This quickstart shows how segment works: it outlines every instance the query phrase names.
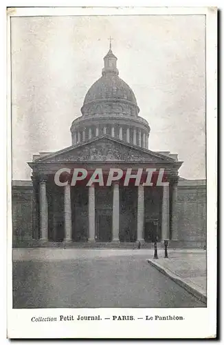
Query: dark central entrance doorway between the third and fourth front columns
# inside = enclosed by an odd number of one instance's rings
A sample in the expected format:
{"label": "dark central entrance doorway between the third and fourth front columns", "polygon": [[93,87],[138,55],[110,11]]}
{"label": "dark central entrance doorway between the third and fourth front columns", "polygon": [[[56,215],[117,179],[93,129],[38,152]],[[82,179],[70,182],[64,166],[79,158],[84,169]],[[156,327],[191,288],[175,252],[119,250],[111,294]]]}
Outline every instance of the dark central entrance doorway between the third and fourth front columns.
{"label": "dark central entrance doorway between the third and fourth front columns", "polygon": [[112,241],[112,216],[98,215],[96,225],[96,240],[98,242]]}

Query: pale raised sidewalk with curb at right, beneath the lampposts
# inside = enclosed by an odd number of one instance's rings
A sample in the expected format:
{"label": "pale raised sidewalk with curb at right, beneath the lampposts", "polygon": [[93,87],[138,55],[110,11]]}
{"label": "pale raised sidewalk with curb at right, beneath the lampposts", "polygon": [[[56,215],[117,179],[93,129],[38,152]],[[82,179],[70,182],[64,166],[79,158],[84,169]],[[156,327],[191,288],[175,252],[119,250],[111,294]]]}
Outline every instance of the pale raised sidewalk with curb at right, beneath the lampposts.
{"label": "pale raised sidewalk with curb at right, beneath the lampposts", "polygon": [[159,252],[159,258],[150,257],[148,263],[206,303],[206,251],[200,249],[188,252],[186,250],[168,250],[166,259],[164,251],[159,250]]}

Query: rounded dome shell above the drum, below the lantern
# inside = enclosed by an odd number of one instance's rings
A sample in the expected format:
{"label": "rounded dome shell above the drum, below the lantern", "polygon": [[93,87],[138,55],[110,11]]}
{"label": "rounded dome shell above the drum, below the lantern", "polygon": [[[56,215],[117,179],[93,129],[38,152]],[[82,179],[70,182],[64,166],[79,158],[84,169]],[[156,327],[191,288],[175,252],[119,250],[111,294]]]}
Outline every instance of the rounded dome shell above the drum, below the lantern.
{"label": "rounded dome shell above the drum, below the lantern", "polygon": [[117,99],[130,101],[137,106],[137,101],[133,90],[117,75],[106,73],[98,79],[84,99],[84,105],[96,100]]}

